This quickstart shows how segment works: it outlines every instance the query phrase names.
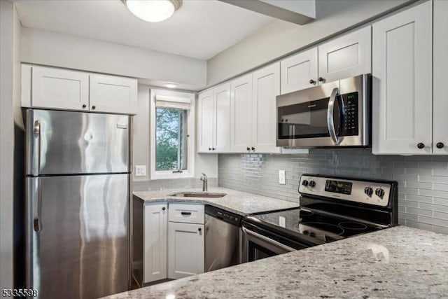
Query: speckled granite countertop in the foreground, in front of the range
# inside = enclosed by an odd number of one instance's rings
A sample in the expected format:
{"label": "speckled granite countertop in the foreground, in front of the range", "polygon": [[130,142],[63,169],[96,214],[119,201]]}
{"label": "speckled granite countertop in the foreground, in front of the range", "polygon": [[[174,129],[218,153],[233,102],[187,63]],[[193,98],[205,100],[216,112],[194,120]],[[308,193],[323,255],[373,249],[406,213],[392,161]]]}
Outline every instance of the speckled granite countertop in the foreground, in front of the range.
{"label": "speckled granite countertop in the foreground, in front of the range", "polygon": [[448,235],[397,226],[118,298],[448,298]]}

